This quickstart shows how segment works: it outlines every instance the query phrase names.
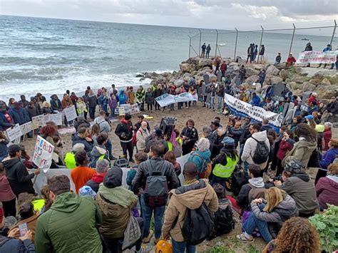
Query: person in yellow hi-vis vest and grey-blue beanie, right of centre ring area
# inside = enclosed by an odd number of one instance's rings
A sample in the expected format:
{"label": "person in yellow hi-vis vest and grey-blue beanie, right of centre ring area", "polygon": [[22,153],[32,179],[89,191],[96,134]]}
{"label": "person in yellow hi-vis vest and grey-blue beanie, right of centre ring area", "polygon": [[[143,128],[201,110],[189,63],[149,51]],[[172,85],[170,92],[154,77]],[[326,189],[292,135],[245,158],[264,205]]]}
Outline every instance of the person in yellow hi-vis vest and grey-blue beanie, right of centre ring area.
{"label": "person in yellow hi-vis vest and grey-blue beanie, right of centre ring area", "polygon": [[212,165],[215,167],[212,170],[212,181],[214,185],[216,182],[225,187],[225,180],[231,177],[232,172],[238,162],[237,150],[235,150],[235,140],[225,136],[222,140],[223,148],[220,153],[212,159]]}

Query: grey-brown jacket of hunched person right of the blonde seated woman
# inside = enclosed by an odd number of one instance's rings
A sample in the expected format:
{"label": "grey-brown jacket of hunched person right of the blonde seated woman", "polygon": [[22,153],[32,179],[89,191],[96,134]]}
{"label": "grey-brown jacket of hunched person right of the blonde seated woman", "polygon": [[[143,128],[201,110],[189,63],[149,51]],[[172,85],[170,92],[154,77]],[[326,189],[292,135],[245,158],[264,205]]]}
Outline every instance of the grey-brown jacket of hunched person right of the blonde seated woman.
{"label": "grey-brown jacket of hunched person right of the blonde seated woman", "polygon": [[280,186],[296,202],[299,213],[312,214],[318,208],[316,189],[306,172],[293,173]]}

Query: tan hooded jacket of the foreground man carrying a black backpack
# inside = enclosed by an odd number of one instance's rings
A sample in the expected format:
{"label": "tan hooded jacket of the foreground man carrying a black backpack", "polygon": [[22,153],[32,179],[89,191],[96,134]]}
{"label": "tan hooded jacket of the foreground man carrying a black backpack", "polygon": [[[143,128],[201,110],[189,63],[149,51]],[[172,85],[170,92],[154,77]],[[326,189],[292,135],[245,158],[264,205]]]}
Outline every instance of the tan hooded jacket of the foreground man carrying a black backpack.
{"label": "tan hooded jacket of the foreground man carrying a black backpack", "polygon": [[170,200],[167,210],[165,210],[162,233],[164,237],[170,234],[176,242],[184,242],[181,227],[183,227],[187,208],[195,210],[205,202],[210,212],[216,212],[218,209],[216,192],[207,180],[183,185],[171,190],[169,195]]}

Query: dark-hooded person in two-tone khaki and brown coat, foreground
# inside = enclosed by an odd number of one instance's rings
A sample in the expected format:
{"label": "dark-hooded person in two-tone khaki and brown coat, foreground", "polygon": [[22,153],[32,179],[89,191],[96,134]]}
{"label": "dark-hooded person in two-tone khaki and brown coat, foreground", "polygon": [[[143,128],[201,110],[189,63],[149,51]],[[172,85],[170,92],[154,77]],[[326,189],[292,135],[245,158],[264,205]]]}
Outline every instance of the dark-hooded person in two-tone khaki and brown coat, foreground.
{"label": "dark-hooded person in two-tone khaki and brown coat, foreground", "polygon": [[[130,210],[138,202],[138,197],[122,186],[122,175],[120,167],[114,166],[108,170],[96,195],[96,202],[103,216],[99,231],[108,252],[121,252],[120,241],[123,241],[130,219]],[[143,219],[136,219],[142,231]],[[136,251],[140,250],[141,243],[142,237],[136,242]]]}

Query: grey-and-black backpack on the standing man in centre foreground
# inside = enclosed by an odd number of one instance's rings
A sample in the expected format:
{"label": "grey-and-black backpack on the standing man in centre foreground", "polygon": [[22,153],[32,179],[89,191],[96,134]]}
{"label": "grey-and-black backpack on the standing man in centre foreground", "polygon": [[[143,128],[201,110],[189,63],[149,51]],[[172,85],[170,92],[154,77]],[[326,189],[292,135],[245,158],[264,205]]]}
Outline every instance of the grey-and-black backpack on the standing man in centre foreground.
{"label": "grey-and-black backpack on the standing man in centre foreground", "polygon": [[149,207],[162,207],[167,203],[168,197],[168,182],[167,177],[163,175],[163,165],[165,160],[162,161],[160,170],[153,170],[153,165],[151,160],[148,160],[150,163],[149,175],[145,182],[145,204]]}

